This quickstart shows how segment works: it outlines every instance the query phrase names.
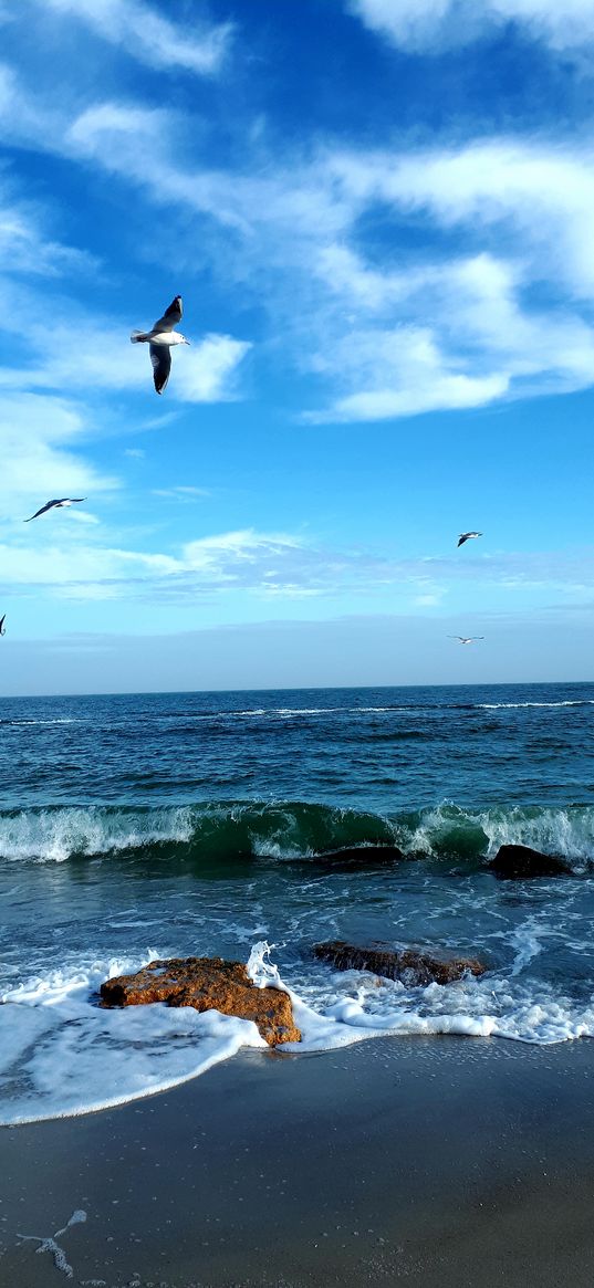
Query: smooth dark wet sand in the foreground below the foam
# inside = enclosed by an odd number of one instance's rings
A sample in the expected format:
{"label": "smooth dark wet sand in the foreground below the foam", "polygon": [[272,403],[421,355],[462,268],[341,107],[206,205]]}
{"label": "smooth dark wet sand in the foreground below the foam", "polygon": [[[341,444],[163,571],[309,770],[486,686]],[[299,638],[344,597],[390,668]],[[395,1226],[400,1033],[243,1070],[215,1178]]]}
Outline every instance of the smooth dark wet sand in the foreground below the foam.
{"label": "smooth dark wet sand in the foreground below the foam", "polygon": [[[388,1038],[4,1128],[0,1288],[591,1288],[593,1092],[588,1039]],[[18,1235],[75,1209],[68,1278]]]}

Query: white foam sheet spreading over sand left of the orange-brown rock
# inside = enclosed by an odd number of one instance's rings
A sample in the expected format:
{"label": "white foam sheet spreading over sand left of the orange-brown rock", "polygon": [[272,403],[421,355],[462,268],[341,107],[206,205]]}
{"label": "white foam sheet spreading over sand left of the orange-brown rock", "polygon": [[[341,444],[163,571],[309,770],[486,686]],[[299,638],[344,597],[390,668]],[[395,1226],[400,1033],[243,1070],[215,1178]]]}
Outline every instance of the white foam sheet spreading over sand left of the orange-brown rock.
{"label": "white foam sheet spreading over sand left of the orange-brown rock", "polygon": [[192,1007],[102,1010],[95,989],[140,961],[95,962],[8,990],[0,1006],[0,1124],[125,1104],[195,1078],[241,1046],[265,1047],[255,1024]]}

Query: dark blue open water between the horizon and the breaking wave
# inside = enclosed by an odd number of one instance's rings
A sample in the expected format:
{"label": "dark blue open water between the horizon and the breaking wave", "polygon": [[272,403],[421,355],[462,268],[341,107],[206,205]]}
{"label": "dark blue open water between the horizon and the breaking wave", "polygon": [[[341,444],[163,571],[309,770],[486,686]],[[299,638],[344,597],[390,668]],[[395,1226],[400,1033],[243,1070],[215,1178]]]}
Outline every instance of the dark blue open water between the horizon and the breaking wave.
{"label": "dark blue open water between the horizon and the breaking wave", "polygon": [[593,723],[589,684],[12,698],[3,802],[566,804]]}

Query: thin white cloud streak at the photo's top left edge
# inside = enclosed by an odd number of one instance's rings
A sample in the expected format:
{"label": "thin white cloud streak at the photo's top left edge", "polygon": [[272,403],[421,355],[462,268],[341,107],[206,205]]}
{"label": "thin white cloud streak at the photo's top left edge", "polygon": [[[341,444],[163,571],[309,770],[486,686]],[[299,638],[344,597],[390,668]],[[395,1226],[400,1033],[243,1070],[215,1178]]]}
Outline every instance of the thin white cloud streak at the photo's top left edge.
{"label": "thin white cloud streak at the photo's top left edge", "polygon": [[[218,72],[232,36],[231,23],[192,26],[171,22],[143,0],[36,0],[44,10],[84,22],[102,40],[119,45],[149,67],[180,67],[207,76]],[[173,12],[173,8],[170,12]]]}

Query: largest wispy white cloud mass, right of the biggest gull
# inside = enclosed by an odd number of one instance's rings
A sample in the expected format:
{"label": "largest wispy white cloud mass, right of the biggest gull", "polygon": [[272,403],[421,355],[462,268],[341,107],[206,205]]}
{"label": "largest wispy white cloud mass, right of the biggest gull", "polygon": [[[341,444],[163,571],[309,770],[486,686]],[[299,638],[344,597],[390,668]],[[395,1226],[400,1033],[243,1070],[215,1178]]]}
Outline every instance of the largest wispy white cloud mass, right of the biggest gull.
{"label": "largest wispy white cloud mass, right of the biggest gull", "polygon": [[[72,126],[95,157],[101,121],[90,135],[89,120],[82,135]],[[120,174],[130,148],[126,129],[110,148]],[[311,420],[477,407],[594,379],[588,148],[496,138],[456,149],[325,149],[262,180],[191,171],[171,158],[158,179],[155,158],[135,166],[158,204],[182,202],[235,231],[227,255],[242,256],[247,289],[251,273],[264,282],[294,363],[334,385]],[[362,237],[362,220],[380,204],[394,224],[419,224],[419,247],[408,264],[401,254],[397,269],[379,268]],[[452,229],[474,254],[421,250],[426,233]],[[545,261],[555,299],[537,304],[531,289],[541,286]]]}

